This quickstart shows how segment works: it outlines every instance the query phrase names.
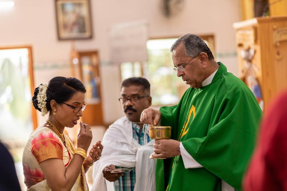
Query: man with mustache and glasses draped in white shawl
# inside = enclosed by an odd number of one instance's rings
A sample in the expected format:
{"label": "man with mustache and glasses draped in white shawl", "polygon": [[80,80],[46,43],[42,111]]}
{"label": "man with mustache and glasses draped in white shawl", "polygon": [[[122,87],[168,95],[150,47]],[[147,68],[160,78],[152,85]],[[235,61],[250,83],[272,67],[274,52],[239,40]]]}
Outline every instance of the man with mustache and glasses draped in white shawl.
{"label": "man with mustache and glasses draped in white shawl", "polygon": [[[119,98],[125,117],[109,126],[102,144],[102,157],[93,168],[92,191],[155,190],[154,140],[146,133],[148,124],[140,122],[141,113],[152,104],[150,84],[145,78],[124,80]],[[109,169],[132,167],[127,173],[112,173]]]}

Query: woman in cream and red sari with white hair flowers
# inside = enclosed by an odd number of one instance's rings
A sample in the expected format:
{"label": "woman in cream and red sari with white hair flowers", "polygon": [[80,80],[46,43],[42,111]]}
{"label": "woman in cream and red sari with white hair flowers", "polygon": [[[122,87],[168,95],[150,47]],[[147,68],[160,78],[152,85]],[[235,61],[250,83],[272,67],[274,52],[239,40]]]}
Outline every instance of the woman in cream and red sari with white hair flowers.
{"label": "woman in cream and red sari with white hair flowers", "polygon": [[100,141],[91,144],[91,128],[80,122],[77,148],[65,127],[72,128],[83,116],[86,89],[77,78],[54,77],[34,91],[32,102],[46,123],[30,135],[23,153],[25,184],[28,190],[88,190],[85,172],[103,150]]}

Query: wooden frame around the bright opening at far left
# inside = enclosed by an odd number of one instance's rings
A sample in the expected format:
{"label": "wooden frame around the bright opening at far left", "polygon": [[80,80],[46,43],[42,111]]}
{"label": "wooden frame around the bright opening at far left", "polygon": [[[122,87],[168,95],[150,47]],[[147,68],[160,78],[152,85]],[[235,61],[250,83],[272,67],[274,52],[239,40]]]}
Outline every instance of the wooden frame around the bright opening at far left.
{"label": "wooden frame around the bright opening at far left", "polygon": [[[33,73],[33,56],[32,56],[32,46],[30,45],[23,45],[23,46],[1,46],[0,50],[7,50],[7,49],[22,49],[22,48],[27,48],[28,49],[28,71],[29,71],[29,77],[30,77],[30,91],[31,91],[31,96],[33,97],[34,95],[34,73]],[[33,123],[33,130],[35,130],[38,127],[37,123],[37,113],[36,109],[33,107],[33,103],[31,101],[31,117],[32,117],[32,123]]]}

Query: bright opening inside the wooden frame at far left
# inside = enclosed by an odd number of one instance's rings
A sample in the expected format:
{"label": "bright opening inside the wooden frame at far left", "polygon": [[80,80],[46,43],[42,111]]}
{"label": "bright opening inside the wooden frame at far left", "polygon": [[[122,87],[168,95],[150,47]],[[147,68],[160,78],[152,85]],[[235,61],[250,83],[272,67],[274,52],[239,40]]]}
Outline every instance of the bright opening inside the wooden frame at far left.
{"label": "bright opening inside the wooden frame at far left", "polygon": [[7,127],[8,121],[8,126],[13,127],[13,133],[11,128],[1,128],[0,139],[4,142],[28,138],[33,130],[34,87],[30,83],[28,54],[28,48],[0,50],[0,127]]}

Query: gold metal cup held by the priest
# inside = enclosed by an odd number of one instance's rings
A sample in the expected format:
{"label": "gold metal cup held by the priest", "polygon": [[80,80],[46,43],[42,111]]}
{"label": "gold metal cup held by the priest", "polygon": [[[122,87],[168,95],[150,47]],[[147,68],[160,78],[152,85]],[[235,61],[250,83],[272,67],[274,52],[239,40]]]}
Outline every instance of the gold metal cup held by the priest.
{"label": "gold metal cup held by the priest", "polygon": [[[149,127],[148,130],[148,134],[149,137],[151,139],[170,139],[170,135],[171,135],[171,127],[169,126],[153,126],[153,127]],[[152,158],[152,155],[150,155],[149,158]],[[159,158],[159,159],[165,159],[165,158],[170,158],[170,157],[163,157],[163,158]]]}

